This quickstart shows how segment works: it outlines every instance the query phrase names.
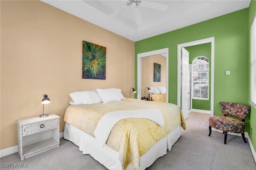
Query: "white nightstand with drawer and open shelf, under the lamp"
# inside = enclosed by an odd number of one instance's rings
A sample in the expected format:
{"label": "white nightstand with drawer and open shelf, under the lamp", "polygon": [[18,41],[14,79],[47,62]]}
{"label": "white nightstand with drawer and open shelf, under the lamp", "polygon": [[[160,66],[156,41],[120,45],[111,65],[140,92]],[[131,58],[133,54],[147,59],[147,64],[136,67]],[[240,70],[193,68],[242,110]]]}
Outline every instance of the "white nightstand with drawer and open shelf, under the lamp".
{"label": "white nightstand with drawer and open shelf, under the lamp", "polygon": [[30,117],[17,120],[18,153],[24,160],[60,146],[60,117]]}

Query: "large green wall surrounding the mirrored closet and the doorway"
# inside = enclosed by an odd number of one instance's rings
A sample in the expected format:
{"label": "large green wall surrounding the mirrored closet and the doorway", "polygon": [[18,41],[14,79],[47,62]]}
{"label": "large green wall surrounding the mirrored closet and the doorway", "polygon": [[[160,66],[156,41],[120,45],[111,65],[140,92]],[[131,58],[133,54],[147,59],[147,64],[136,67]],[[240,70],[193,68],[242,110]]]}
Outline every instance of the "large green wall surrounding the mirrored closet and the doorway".
{"label": "large green wall surrounding the mirrored closet and the doorway", "polygon": [[[250,93],[250,24],[256,1],[249,8],[212,18],[178,30],[135,42],[135,87],[137,88],[137,54],[169,48],[168,101],[177,104],[177,45],[214,37],[214,115],[222,115],[219,102],[248,104]],[[225,71],[230,71],[226,75]],[[256,148],[256,109],[246,119],[246,132],[253,128],[250,139]]]}

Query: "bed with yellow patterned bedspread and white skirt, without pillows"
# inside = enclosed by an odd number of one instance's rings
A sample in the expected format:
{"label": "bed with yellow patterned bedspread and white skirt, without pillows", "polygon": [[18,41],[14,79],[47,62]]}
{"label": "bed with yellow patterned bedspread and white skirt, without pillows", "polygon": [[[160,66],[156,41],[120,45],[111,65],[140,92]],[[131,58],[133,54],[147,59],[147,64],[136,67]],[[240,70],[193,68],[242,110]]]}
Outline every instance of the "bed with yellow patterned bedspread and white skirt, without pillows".
{"label": "bed with yellow patterned bedspread and white skirt, without pillows", "polygon": [[[178,140],[181,127],[186,128],[183,115],[177,105],[170,103],[121,98],[107,103],[70,105],[64,116],[64,138],[110,170],[145,169]],[[109,113],[124,111],[135,115],[144,111],[144,115],[117,121],[104,143],[101,137],[106,135],[96,134],[100,122]],[[157,111],[162,115],[162,125],[161,121],[144,118]]]}

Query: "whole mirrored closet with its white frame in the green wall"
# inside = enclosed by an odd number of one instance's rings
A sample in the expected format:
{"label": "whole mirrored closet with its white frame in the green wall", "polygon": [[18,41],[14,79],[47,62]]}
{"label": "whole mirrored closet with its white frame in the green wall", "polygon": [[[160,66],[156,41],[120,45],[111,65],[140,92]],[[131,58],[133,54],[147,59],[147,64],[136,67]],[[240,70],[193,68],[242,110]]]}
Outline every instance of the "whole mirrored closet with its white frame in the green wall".
{"label": "whole mirrored closet with its white frame in the green wall", "polygon": [[163,96],[161,100],[155,97],[154,101],[168,103],[168,51],[168,48],[163,48],[137,54],[137,99],[153,101],[154,93]]}

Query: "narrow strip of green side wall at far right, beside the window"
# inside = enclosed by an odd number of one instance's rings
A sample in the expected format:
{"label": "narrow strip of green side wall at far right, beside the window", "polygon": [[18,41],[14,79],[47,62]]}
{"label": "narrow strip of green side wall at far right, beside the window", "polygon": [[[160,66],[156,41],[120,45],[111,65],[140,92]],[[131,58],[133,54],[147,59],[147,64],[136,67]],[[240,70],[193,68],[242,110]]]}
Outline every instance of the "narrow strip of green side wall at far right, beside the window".
{"label": "narrow strip of green side wall at far right, beside the window", "polygon": [[[252,25],[252,19],[256,13],[256,0],[251,0],[250,2],[250,6],[249,6],[249,17],[248,17],[248,42],[249,42],[249,45],[248,45],[248,53],[250,54],[250,51],[251,51],[251,48],[250,48],[250,37],[251,37],[251,34],[250,34],[250,28],[251,28],[251,25]],[[250,55],[249,55],[249,61],[248,61],[248,72],[250,73]],[[250,77],[250,76],[249,76]],[[248,80],[248,101],[250,101],[250,79]],[[248,103],[250,105],[250,103]],[[248,134],[250,136],[250,140],[252,141],[252,144],[253,144],[253,147],[254,147],[254,150],[256,151],[256,109],[254,106],[250,105],[251,106],[251,112],[248,116],[247,119],[249,119],[249,125],[247,126],[248,127]],[[250,134],[250,130],[252,128],[252,134]]]}

